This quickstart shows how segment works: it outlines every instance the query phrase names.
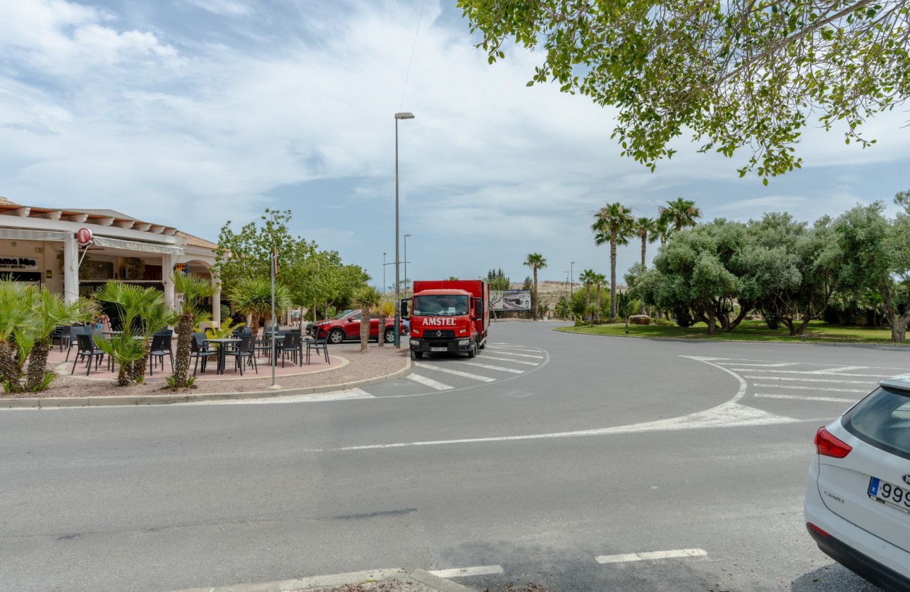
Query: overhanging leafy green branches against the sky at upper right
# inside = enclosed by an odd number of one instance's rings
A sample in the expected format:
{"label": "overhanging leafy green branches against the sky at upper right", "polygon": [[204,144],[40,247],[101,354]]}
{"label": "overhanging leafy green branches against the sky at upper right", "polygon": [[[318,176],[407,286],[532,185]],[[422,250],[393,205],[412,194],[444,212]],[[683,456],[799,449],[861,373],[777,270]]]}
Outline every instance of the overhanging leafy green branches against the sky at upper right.
{"label": "overhanging leafy green branches against the sky at upper right", "polygon": [[622,155],[650,166],[691,133],[701,152],[751,151],[740,176],[801,166],[810,117],[864,140],[865,119],[905,101],[904,2],[782,0],[654,5],[591,0],[458,0],[490,63],[514,39],[541,55],[528,85],[612,105]]}

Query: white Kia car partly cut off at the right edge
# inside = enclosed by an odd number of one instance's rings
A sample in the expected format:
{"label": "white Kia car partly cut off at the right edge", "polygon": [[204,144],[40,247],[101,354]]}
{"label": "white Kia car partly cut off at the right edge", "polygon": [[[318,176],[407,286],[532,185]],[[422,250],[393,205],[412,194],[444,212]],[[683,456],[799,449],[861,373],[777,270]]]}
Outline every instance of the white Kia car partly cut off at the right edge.
{"label": "white Kia car partly cut off at the right edge", "polygon": [[910,590],[910,376],[883,380],[815,435],[805,521],[818,547],[885,590]]}

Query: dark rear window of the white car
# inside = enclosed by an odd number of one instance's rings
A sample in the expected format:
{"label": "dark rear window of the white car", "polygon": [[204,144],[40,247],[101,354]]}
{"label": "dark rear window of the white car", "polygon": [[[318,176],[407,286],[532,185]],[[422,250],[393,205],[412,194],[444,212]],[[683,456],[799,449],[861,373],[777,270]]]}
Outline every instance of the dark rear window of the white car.
{"label": "dark rear window of the white car", "polygon": [[910,393],[875,389],[844,416],[844,427],[874,447],[910,459]]}

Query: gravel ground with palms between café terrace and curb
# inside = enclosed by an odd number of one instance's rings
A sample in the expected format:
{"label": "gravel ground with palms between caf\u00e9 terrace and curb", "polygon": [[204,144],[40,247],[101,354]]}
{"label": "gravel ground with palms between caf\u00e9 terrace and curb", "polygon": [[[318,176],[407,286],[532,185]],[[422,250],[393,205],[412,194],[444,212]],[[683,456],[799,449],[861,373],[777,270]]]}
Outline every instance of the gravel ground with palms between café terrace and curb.
{"label": "gravel ground with palms between caf\u00e9 terrace and curb", "polygon": [[[376,346],[370,344],[366,353],[360,353],[359,344],[345,344],[341,346],[331,346],[329,354],[332,358],[341,357],[347,360],[347,364],[341,364],[329,369],[317,369],[306,374],[296,376],[278,376],[276,383],[281,386],[281,390],[292,390],[296,388],[307,388],[309,386],[329,386],[329,385],[346,385],[359,380],[366,380],[378,376],[385,376],[401,370],[409,363],[408,349],[402,347],[396,349],[394,346]],[[167,385],[156,376],[154,380],[148,380],[141,385],[133,386],[116,386],[113,380],[95,380],[86,379],[85,376],[70,376],[69,369],[72,366],[61,366],[62,373],[51,383],[51,386],[41,393],[17,393],[15,397],[27,396],[145,396],[145,395],[167,395],[171,393]],[[262,369],[266,368],[267,372],[263,373]],[[308,366],[303,366],[301,370],[306,371]],[[265,374],[265,376],[263,376]],[[232,376],[232,375],[226,375]],[[203,393],[241,393],[266,391],[272,384],[271,374],[268,372],[268,366],[260,368],[259,376],[261,378],[227,378],[225,380],[197,380],[194,388],[184,389],[182,392],[189,394]],[[8,398],[11,395],[0,393],[0,398]]]}

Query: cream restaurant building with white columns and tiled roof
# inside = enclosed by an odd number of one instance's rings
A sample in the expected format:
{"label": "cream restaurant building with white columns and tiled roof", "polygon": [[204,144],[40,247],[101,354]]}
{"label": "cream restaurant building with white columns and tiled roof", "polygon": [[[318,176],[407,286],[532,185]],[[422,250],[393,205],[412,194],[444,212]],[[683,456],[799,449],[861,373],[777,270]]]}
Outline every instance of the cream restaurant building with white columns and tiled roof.
{"label": "cream restaurant building with white columns and tiled roof", "polygon": [[[83,228],[91,231],[87,247],[76,239]],[[158,287],[167,305],[177,309],[182,295],[175,292],[174,274],[212,277],[215,247],[115,210],[24,206],[0,197],[0,276],[46,286],[68,301],[117,279]],[[220,326],[221,293],[215,286],[212,324]]]}

